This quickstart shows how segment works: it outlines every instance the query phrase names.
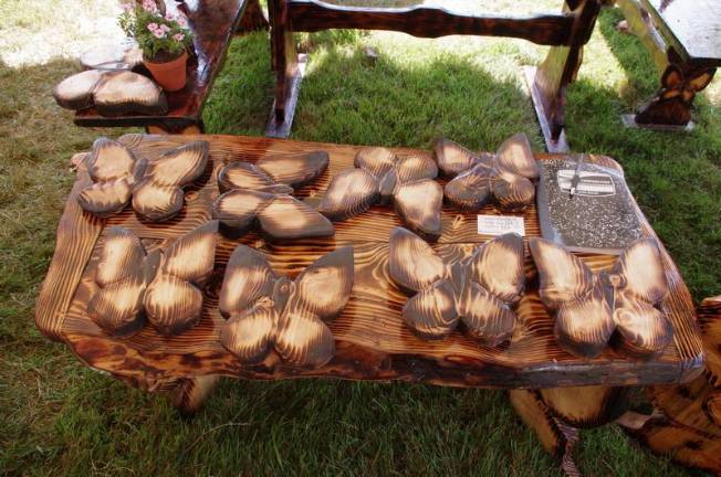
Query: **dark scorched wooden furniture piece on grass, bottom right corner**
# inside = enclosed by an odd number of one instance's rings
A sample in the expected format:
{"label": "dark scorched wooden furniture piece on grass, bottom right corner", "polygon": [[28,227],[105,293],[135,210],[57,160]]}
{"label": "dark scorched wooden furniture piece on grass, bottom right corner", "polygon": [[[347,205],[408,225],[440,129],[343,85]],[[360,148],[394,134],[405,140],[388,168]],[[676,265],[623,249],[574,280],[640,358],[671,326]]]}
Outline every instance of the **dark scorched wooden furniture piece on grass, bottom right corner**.
{"label": "dark scorched wooden furniture piece on grass, bottom right corner", "polygon": [[721,475],[721,390],[715,388],[721,382],[721,296],[704,299],[697,314],[707,374],[687,384],[647,388],[654,414],[628,412],[618,424],[655,454]]}

